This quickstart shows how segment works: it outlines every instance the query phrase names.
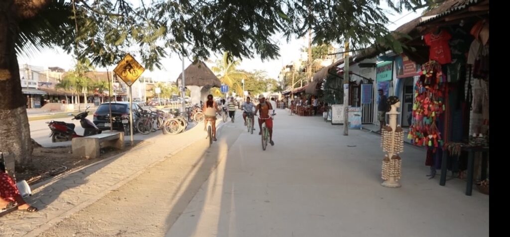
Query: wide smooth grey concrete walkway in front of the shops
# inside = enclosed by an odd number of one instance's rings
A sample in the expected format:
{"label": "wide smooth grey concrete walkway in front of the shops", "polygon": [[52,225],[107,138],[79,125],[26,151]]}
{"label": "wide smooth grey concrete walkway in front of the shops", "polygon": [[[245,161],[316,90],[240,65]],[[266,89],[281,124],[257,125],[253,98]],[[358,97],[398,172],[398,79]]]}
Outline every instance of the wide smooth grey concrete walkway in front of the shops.
{"label": "wide smooth grey concrete walkway in front of the shops", "polygon": [[489,236],[489,197],[428,180],[424,150],[405,145],[385,188],[378,135],[278,114],[275,145],[242,133],[166,236]]}

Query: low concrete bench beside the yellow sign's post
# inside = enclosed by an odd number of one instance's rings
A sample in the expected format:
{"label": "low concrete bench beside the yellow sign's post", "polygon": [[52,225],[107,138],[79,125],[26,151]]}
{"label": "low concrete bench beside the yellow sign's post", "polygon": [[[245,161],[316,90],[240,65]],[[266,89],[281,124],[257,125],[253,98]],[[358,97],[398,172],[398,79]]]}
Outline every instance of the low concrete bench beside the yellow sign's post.
{"label": "low concrete bench beside the yellow sign's post", "polygon": [[123,149],[124,133],[109,132],[88,137],[73,138],[72,156],[76,158],[88,157],[89,159],[94,159],[99,157],[99,150],[103,147]]}

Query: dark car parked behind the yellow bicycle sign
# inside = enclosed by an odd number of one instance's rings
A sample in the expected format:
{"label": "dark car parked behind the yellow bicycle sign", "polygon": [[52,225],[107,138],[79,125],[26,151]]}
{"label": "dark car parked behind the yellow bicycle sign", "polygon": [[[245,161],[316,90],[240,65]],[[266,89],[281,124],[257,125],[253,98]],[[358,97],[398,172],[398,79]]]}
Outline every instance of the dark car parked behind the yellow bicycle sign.
{"label": "dark car parked behind the yellow bicycle sign", "polygon": [[[136,123],[139,118],[139,112],[142,107],[138,104],[133,104],[133,122]],[[110,127],[113,130],[124,131],[124,124],[122,120],[125,120],[126,116],[129,116],[129,102],[112,102],[112,116],[113,124],[110,124],[110,103],[103,103],[99,105],[94,113],[93,122],[97,128],[101,130],[109,130]],[[129,125],[129,124],[128,124]]]}

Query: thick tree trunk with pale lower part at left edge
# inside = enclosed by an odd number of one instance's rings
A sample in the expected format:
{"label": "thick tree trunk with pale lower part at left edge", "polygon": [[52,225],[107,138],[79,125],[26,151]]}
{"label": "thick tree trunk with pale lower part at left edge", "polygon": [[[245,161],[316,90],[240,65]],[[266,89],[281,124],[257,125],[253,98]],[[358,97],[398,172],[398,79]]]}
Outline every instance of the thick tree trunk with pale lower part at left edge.
{"label": "thick tree trunk with pale lower part at left edge", "polygon": [[0,151],[13,154],[20,164],[32,158],[27,99],[21,93],[19,65],[14,50],[18,37],[14,0],[0,1]]}

